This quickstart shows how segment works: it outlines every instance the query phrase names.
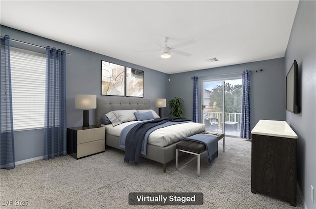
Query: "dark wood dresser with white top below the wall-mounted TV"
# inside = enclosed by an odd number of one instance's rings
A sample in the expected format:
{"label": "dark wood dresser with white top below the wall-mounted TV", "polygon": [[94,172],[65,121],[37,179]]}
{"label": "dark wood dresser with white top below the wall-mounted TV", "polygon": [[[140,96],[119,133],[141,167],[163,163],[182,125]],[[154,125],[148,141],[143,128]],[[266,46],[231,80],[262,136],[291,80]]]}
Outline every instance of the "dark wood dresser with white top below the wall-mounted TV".
{"label": "dark wood dresser with white top below the wall-mounted TV", "polygon": [[276,120],[260,120],[251,135],[251,192],[296,206],[297,135]]}

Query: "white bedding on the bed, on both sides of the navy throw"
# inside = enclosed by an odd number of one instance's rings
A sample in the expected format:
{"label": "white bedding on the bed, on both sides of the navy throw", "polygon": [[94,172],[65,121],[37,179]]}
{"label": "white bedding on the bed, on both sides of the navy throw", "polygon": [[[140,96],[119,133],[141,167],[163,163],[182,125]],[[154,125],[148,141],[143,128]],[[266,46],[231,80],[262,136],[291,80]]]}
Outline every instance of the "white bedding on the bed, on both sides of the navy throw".
{"label": "white bedding on the bed, on both sides of the navy throw", "polygon": [[[105,127],[107,134],[119,137],[120,132],[124,127],[137,122],[139,121],[129,121],[121,123],[117,126],[113,126],[112,124],[103,124],[101,126]],[[171,125],[153,131],[149,135],[147,143],[155,146],[164,147],[169,144],[175,143],[183,138],[203,132],[204,130],[205,124],[201,123],[188,122]]]}

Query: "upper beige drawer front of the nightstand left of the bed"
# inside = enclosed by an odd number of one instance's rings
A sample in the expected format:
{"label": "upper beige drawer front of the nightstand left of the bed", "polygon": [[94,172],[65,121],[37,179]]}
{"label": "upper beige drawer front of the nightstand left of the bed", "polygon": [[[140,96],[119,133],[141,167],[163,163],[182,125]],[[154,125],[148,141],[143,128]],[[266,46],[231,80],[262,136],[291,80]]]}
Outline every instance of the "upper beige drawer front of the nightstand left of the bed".
{"label": "upper beige drawer front of the nightstand left of the bed", "polygon": [[77,143],[86,143],[105,138],[104,127],[78,131]]}

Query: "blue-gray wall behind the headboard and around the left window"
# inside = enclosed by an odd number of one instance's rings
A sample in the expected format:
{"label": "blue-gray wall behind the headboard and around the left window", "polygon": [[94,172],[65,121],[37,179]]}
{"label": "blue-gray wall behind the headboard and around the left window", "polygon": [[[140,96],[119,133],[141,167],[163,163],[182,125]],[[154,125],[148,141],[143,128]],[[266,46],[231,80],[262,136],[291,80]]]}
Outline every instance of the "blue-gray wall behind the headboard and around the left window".
{"label": "blue-gray wall behind the headboard and around the left window", "polygon": [[[166,94],[168,75],[157,70],[127,63],[105,55],[93,53],[78,47],[31,35],[5,26],[0,26],[1,36],[10,35],[11,39],[20,40],[40,46],[50,46],[66,50],[71,55],[66,58],[66,98],[67,98],[67,127],[82,126],[82,110],[75,109],[76,94],[93,94],[101,96],[101,60],[119,65],[144,70],[144,99],[151,100],[151,108],[155,107],[155,98],[164,98]],[[11,46],[17,45],[11,41]],[[26,45],[19,45],[25,47]],[[104,46],[106,47],[106,46]],[[45,53],[44,49],[35,48]],[[112,96],[113,97],[113,96]],[[95,124],[94,110],[89,110],[89,123]],[[35,158],[43,155],[43,129],[17,131],[14,133],[15,161]]]}

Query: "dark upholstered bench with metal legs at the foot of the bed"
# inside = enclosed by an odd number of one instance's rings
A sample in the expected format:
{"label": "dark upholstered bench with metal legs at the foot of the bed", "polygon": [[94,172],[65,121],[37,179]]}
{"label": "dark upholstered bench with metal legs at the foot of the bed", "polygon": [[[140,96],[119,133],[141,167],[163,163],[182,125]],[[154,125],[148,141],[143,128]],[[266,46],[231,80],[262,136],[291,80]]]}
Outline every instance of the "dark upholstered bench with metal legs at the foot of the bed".
{"label": "dark upholstered bench with metal legs at the foot of the bed", "polygon": [[[225,134],[211,131],[204,131],[200,134],[213,135],[217,140],[223,139],[223,151],[225,152]],[[197,155],[197,176],[200,174],[200,154],[206,151],[204,143],[197,141],[183,140],[176,145],[176,169],[178,169],[178,151]],[[216,156],[217,157],[217,156]]]}

